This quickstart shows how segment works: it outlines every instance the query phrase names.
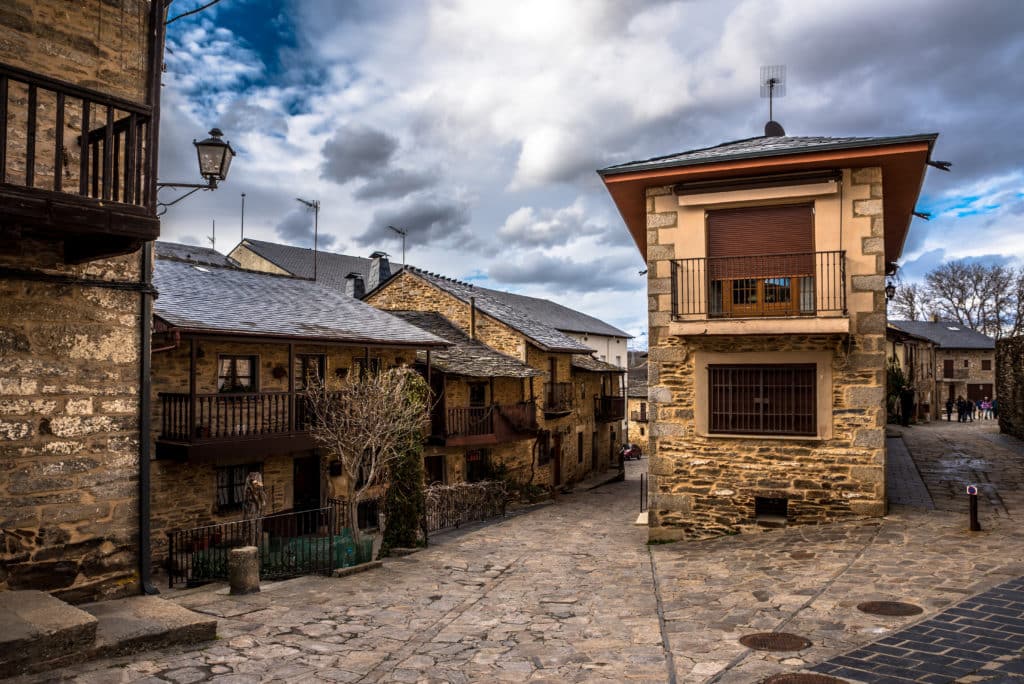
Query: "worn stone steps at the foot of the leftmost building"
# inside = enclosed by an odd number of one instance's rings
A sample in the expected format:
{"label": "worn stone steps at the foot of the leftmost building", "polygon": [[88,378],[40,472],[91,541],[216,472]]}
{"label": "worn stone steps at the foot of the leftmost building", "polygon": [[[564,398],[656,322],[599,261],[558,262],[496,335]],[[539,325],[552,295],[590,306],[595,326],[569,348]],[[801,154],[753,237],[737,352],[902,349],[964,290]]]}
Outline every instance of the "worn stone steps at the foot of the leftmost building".
{"label": "worn stone steps at the foot of the leftmost building", "polygon": [[0,592],[0,678],[97,657],[195,644],[217,621],[157,596],[71,606],[36,591]]}

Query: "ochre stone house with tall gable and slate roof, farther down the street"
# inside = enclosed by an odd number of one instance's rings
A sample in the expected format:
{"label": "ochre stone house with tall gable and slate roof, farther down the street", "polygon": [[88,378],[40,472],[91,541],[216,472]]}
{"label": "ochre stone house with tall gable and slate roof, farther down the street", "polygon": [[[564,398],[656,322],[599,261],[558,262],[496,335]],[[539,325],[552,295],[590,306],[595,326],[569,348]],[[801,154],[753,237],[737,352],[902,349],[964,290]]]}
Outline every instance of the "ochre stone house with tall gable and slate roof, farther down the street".
{"label": "ochre stone house with tall gable and slate roof, farther down the street", "polygon": [[623,434],[622,370],[492,292],[406,267],[369,293],[366,301],[385,310],[438,313],[471,340],[541,372],[526,379],[520,390],[506,383],[511,394],[495,399],[536,405],[534,439],[511,440],[486,454],[467,448],[456,463],[486,457],[494,465],[523,474],[524,483],[550,486],[607,469],[615,462],[615,444]]}

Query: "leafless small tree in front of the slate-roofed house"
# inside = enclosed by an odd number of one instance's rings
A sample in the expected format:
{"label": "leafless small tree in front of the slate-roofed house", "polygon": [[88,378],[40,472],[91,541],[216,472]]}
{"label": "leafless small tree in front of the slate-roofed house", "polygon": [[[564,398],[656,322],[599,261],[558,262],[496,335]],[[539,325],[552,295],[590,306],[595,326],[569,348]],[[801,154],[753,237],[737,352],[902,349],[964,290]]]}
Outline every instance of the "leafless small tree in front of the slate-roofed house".
{"label": "leafless small tree in front of the slate-roofed house", "polygon": [[337,388],[313,382],[305,394],[309,433],[327,458],[341,462],[352,537],[359,547],[358,504],[386,485],[392,464],[428,425],[429,388],[411,369],[349,374]]}

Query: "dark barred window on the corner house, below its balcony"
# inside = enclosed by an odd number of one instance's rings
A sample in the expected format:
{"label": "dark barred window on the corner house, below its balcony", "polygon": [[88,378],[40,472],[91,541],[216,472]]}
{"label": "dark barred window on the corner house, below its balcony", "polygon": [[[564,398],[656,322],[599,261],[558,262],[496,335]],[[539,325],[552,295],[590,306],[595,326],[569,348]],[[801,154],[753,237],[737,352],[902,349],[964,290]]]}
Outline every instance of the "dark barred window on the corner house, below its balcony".
{"label": "dark barred window on the corner house, below its balcony", "polygon": [[727,434],[817,434],[814,364],[711,366],[708,431]]}

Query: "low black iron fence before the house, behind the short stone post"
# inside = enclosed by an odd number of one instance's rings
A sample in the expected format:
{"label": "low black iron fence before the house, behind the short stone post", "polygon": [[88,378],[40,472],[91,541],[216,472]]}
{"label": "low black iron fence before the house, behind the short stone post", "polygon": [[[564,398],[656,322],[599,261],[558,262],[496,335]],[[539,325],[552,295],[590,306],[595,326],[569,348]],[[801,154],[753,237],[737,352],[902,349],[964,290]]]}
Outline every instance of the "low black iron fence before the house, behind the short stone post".
{"label": "low black iron fence before the house, behind the short stone post", "polygon": [[258,547],[262,580],[329,574],[371,560],[373,539],[356,548],[346,510],[343,502],[332,500],[309,511],[168,532],[168,585],[227,580],[230,550],[242,546]]}

